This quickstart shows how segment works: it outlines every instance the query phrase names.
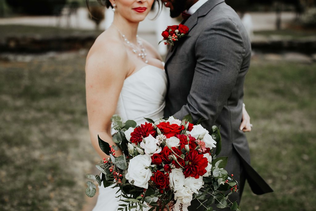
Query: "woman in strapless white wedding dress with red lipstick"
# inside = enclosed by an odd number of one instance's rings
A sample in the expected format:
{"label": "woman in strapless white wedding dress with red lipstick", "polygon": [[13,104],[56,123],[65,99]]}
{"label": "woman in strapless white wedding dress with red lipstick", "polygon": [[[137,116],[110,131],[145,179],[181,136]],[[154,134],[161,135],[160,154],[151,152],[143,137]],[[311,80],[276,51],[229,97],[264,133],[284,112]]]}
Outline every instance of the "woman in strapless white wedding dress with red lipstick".
{"label": "woman in strapless white wedding dress with red lipstick", "polygon": [[[154,1],[105,1],[114,11],[114,20],[95,40],[86,60],[89,132],[100,158],[108,156],[99,147],[98,135],[115,145],[111,137],[112,115],[120,115],[123,121],[134,120],[137,125],[145,121],[143,117],[153,120],[164,117],[167,92],[164,63],[155,48],[137,36],[138,24],[148,15]],[[243,125],[248,117],[245,110]],[[122,154],[115,153],[115,156]],[[122,203],[115,198],[119,195],[117,190],[101,185],[93,211],[116,211]]]}

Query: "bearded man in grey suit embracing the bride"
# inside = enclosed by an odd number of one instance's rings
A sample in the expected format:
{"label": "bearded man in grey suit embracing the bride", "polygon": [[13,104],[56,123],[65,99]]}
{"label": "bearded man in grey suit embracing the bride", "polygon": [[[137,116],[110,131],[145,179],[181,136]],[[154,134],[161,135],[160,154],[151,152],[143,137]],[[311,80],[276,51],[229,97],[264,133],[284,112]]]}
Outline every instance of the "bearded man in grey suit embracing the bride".
{"label": "bearded man in grey suit embracing the bride", "polygon": [[[222,152],[228,156],[226,170],[234,174],[240,191],[230,201],[240,202],[247,180],[253,193],[272,192],[250,165],[245,134],[239,129],[242,119],[243,86],[251,59],[251,44],[239,16],[224,0],[162,0],[170,16],[182,14],[189,28],[187,37],[169,49],[165,69],[168,93],[165,116],[182,119],[191,114],[202,126],[220,126]],[[199,202],[192,201],[189,210]],[[214,205],[213,205],[213,208]],[[229,209],[228,209],[229,210]]]}

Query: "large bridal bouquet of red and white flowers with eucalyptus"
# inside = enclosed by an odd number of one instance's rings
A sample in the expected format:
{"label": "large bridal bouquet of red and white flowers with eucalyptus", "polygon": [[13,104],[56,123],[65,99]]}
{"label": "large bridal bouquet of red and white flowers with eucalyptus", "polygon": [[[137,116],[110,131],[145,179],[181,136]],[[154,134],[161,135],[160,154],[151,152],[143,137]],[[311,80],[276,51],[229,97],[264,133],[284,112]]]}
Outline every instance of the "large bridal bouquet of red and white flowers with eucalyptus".
{"label": "large bridal bouquet of red and white flowers with eucalyptus", "polygon": [[[193,199],[209,211],[214,202],[217,208],[240,210],[236,202],[228,200],[228,195],[238,191],[237,182],[224,169],[228,158],[216,158],[221,151],[221,134],[216,126],[209,132],[200,124],[193,125],[191,115],[182,121],[173,117],[158,122],[145,119],[147,122],[137,126],[135,121],[123,123],[114,115],[111,120],[117,133],[113,141],[117,146],[98,136],[101,150],[110,158],[96,165],[101,177],[87,177],[100,186],[103,181],[104,187],[119,187],[119,200],[125,202],[119,210],[158,211],[170,205],[173,210],[175,202],[182,210],[183,204]],[[119,148],[123,155],[115,157]],[[87,182],[89,197],[96,193],[93,182]]]}

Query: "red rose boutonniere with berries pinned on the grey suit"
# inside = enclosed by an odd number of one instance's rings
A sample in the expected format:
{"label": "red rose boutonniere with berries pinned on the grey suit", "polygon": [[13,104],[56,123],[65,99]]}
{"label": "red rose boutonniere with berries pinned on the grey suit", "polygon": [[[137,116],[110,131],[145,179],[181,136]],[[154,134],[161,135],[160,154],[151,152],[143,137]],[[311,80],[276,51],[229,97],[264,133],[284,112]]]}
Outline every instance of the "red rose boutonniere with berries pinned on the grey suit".
{"label": "red rose boutonniere with berries pinned on the grey suit", "polygon": [[181,37],[186,36],[189,33],[189,28],[183,24],[168,26],[165,31],[162,32],[163,40],[159,43],[164,42],[165,45],[174,45]]}

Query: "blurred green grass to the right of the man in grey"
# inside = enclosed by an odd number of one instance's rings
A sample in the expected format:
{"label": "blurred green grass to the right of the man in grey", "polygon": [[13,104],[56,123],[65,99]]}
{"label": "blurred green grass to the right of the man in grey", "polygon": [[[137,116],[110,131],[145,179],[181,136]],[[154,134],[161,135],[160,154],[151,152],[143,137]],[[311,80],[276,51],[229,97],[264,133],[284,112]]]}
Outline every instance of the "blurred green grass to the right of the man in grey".
{"label": "blurred green grass to the right of the man in grey", "polygon": [[245,103],[254,127],[247,138],[254,168],[275,192],[254,196],[247,185],[243,210],[314,210],[315,70],[315,63],[252,61]]}

